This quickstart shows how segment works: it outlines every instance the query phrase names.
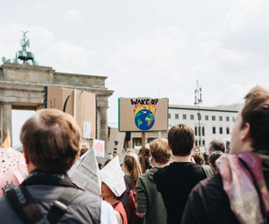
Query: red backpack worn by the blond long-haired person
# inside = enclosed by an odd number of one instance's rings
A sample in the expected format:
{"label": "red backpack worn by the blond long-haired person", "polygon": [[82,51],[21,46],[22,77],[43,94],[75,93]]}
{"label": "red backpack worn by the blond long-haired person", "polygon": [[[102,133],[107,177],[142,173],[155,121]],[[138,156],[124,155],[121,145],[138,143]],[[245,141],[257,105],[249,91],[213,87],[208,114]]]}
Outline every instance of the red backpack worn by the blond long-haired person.
{"label": "red backpack worn by the blond long-haired person", "polygon": [[127,201],[126,201],[126,216],[128,224],[142,224],[143,219],[136,215],[136,192],[135,185],[132,185],[129,181],[126,180],[127,185],[130,186],[131,190],[128,192]]}

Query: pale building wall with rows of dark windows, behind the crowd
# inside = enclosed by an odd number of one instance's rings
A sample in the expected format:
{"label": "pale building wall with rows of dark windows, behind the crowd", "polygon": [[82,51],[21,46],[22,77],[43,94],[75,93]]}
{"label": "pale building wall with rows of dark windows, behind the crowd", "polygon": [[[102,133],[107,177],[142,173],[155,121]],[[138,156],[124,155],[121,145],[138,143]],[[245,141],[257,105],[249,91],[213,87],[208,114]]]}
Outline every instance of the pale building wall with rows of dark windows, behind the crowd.
{"label": "pale building wall with rows of dark windows, behind the crowd", "polygon": [[[230,138],[233,120],[238,114],[239,108],[240,105],[238,104],[216,108],[200,106],[201,142],[199,142],[198,134],[199,121],[197,106],[169,105],[169,128],[178,123],[186,123],[195,131],[195,145],[204,144],[207,148],[213,139],[223,140]],[[213,128],[215,129],[215,133],[213,133]]]}

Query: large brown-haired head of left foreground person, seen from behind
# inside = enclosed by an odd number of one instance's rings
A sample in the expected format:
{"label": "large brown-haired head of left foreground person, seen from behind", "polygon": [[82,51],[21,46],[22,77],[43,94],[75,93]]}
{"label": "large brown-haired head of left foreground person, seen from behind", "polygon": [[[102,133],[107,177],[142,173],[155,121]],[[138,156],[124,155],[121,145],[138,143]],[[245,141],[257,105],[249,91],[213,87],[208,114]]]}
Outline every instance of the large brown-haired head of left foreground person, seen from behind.
{"label": "large brown-haired head of left foreground person, seen from behind", "polygon": [[82,134],[73,116],[40,109],[22,125],[21,142],[28,166],[65,173],[79,155]]}

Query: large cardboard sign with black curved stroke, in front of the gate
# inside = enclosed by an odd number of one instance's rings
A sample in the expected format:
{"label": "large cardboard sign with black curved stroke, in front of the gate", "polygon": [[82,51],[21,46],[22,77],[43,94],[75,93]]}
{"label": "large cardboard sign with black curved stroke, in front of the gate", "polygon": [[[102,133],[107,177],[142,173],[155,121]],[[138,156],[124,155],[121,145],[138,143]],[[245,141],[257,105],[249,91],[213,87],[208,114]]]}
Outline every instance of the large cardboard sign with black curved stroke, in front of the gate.
{"label": "large cardboard sign with black curved stroke, in front of the gate", "polygon": [[[84,138],[96,137],[96,99],[95,94],[84,91],[48,86],[47,108],[60,109],[74,116]],[[88,122],[88,125],[85,125]],[[89,128],[90,130],[84,130]],[[90,135],[89,135],[90,134]]]}

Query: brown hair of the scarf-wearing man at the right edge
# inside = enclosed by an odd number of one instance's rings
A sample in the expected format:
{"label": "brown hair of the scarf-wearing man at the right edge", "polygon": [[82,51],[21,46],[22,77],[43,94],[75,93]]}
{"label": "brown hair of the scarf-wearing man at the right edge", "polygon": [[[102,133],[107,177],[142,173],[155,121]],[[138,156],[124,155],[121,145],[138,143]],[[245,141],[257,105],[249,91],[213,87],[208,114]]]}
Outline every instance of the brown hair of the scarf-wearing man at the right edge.
{"label": "brown hair of the scarf-wearing man at the right edge", "polygon": [[241,128],[250,125],[250,138],[255,150],[265,150],[269,145],[269,91],[261,87],[250,90],[241,111]]}

